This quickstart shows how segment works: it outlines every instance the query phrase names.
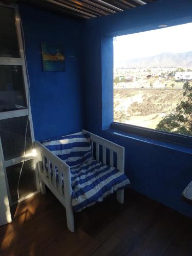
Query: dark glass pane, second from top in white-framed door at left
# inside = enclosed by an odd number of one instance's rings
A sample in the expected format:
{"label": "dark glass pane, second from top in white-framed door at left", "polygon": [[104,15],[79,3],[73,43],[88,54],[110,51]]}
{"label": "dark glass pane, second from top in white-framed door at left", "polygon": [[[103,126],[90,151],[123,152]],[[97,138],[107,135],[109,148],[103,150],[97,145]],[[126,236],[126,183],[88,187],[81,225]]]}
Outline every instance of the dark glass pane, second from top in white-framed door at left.
{"label": "dark glass pane, second from top in white-framed door at left", "polygon": [[26,106],[22,66],[0,65],[0,112]]}

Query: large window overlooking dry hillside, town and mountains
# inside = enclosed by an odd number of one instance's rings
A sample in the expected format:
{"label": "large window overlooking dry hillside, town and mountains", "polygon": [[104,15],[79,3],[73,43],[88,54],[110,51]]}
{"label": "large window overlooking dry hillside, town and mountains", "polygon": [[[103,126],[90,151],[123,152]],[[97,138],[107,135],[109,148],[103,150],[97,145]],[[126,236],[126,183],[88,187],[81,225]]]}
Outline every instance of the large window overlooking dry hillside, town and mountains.
{"label": "large window overlooking dry hillside, town and mountains", "polygon": [[114,38],[115,122],[192,135],[191,29]]}

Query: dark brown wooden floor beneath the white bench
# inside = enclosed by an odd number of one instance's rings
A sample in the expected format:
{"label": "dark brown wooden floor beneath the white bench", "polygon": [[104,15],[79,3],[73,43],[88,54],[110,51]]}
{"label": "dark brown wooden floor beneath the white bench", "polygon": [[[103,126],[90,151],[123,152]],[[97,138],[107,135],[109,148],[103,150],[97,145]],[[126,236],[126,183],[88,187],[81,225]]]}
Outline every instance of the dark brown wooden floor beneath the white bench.
{"label": "dark brown wooden floor beneath the white bench", "polygon": [[48,191],[17,206],[0,228],[0,255],[192,255],[192,220],[132,190],[109,197],[66,227],[65,208]]}

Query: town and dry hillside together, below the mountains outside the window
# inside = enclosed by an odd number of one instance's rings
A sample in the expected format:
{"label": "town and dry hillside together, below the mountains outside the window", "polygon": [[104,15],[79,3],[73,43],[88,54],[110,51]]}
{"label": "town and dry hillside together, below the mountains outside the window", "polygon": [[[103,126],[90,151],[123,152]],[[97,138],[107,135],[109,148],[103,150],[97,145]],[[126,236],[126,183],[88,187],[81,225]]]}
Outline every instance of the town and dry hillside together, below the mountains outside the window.
{"label": "town and dry hillside together, below the mountains outside the window", "polygon": [[114,69],[114,121],[156,129],[183,100],[192,67]]}

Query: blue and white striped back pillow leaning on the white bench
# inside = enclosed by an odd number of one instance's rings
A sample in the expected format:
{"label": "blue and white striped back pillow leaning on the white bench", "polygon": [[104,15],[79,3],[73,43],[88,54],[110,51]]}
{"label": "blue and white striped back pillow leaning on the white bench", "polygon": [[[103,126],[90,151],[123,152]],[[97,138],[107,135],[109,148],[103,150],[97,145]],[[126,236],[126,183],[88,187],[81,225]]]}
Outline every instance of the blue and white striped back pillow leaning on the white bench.
{"label": "blue and white striped back pillow leaning on the white bench", "polygon": [[41,143],[71,167],[92,159],[91,139],[88,133],[61,136]]}

